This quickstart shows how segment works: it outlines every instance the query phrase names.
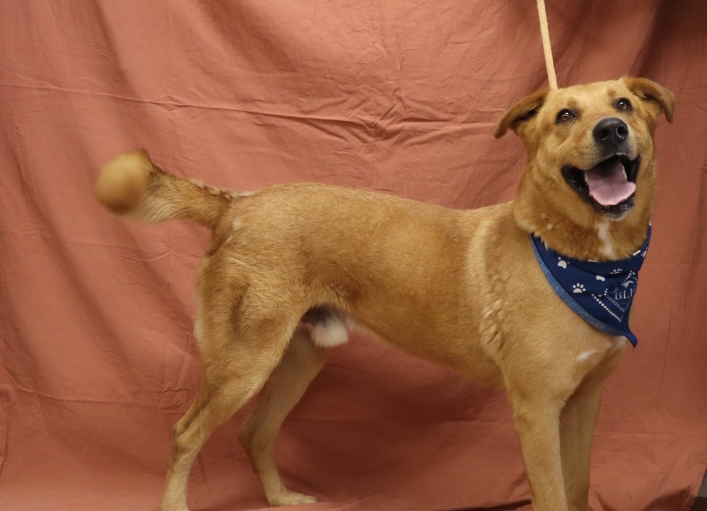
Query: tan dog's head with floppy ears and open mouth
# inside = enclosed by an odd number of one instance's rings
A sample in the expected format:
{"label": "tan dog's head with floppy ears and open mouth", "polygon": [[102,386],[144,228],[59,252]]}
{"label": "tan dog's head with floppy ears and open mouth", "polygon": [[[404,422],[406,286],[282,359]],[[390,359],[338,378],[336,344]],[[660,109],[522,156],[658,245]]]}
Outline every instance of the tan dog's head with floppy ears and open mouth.
{"label": "tan dog's head with floppy ears and open mouth", "polygon": [[620,221],[650,208],[653,130],[662,113],[672,122],[673,104],[670,90],[646,78],[539,90],[510,107],[494,135],[520,136],[525,177],[563,214]]}

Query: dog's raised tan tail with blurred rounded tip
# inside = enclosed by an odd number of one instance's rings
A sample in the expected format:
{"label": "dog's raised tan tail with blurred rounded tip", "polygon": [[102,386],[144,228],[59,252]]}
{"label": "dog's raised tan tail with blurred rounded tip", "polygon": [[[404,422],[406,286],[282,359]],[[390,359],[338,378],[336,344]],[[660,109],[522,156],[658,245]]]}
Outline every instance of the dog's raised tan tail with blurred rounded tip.
{"label": "dog's raised tan tail with blurred rounded tip", "polygon": [[189,218],[209,228],[239,195],[165,172],[145,151],[115,156],[95,184],[98,201],[118,215],[146,223]]}

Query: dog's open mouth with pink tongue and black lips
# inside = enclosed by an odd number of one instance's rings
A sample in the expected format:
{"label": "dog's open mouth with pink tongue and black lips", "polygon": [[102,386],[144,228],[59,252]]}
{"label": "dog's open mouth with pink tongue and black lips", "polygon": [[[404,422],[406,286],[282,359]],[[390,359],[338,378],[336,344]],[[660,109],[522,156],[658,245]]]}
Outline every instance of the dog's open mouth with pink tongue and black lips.
{"label": "dog's open mouth with pink tongue and black lips", "polygon": [[570,187],[597,213],[619,217],[633,208],[640,165],[641,156],[631,160],[628,155],[621,153],[587,170],[565,165],[562,175]]}

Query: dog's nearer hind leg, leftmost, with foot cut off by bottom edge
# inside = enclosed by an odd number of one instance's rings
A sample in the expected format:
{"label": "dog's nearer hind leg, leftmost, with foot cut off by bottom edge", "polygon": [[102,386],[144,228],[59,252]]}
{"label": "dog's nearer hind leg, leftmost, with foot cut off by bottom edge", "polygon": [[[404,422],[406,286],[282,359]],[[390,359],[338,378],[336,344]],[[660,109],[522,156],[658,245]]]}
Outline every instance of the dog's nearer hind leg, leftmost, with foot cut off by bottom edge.
{"label": "dog's nearer hind leg, leftmost, with foot cut off by bottom edge", "polygon": [[[189,471],[199,450],[267,381],[291,337],[284,324],[273,328],[271,321],[263,321],[262,328],[235,328],[233,334],[223,327],[205,329],[201,339],[204,374],[197,399],[173,430],[163,511],[188,510]],[[218,331],[221,334],[214,334]]]}

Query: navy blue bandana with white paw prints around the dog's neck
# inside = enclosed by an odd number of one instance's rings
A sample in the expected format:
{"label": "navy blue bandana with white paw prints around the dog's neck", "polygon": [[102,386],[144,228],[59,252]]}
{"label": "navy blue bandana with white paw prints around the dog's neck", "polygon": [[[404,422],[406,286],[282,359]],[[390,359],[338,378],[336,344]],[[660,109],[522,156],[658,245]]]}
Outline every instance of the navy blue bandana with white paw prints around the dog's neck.
{"label": "navy blue bandana with white paw prints around the dog's neck", "polygon": [[621,261],[572,259],[547,248],[539,237],[531,235],[530,239],[542,272],[562,301],[592,327],[626,336],[636,346],[638,339],[629,329],[629,310],[638,286],[638,270],[648,252],[650,226],[643,247]]}

